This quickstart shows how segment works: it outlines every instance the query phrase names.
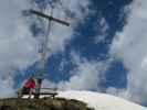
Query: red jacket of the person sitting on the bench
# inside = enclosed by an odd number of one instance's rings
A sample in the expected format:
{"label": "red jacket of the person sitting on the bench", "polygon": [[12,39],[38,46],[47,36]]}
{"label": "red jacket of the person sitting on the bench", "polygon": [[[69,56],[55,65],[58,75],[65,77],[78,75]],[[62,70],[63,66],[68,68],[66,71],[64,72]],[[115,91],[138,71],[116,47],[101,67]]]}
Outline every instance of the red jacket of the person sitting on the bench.
{"label": "red jacket of the person sitting on the bench", "polygon": [[34,80],[33,78],[29,78],[29,79],[24,82],[24,88],[34,89],[34,88],[35,88],[35,80]]}

